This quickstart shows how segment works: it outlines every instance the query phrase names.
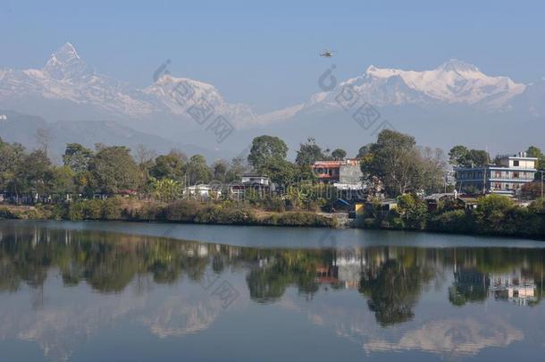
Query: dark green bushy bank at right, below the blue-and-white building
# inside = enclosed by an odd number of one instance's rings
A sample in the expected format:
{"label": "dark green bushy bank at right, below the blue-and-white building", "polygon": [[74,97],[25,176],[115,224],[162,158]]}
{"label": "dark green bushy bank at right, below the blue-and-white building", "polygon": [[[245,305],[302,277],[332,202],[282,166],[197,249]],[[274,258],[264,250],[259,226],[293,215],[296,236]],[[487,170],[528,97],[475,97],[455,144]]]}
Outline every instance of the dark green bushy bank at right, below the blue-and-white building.
{"label": "dark green bushy bank at right, below the blue-and-white building", "polygon": [[545,240],[545,199],[530,206],[518,206],[506,197],[479,198],[475,208],[465,209],[454,202],[428,211],[425,202],[412,195],[398,198],[398,207],[383,213],[369,206],[358,226],[368,229],[413,230],[460,234],[498,235]]}

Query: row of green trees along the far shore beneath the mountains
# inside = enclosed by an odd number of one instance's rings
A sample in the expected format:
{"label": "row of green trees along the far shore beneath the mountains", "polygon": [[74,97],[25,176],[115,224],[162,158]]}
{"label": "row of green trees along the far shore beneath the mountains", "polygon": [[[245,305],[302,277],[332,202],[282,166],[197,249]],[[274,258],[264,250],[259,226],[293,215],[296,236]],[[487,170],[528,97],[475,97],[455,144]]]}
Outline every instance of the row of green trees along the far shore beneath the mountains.
{"label": "row of green trees along the far shore beneath the mountains", "polygon": [[[318,160],[342,160],[347,152],[331,151],[313,138],[301,143],[295,161],[287,158],[289,148],[278,138],[263,135],[253,139],[247,156],[231,162],[216,160],[206,164],[204,156],[186,156],[178,150],[166,155],[138,147],[131,152],[123,146],[97,144],[95,149],[70,143],[63,164],[54,164],[47,155],[46,143],[36,150],[0,139],[0,190],[18,198],[21,195],[118,194],[123,191],[172,200],[189,185],[219,181],[238,181],[242,173],[254,170],[269,176],[285,192],[290,184],[305,180],[316,183],[311,165]],[[529,147],[528,156],[538,157],[538,168],[545,167],[545,156],[538,147]],[[415,138],[394,130],[382,130],[375,142],[360,147],[363,180],[373,190],[380,185],[387,196],[405,193],[433,193],[452,190],[447,180],[449,164],[477,166],[490,164],[484,150],[455,146],[446,156],[440,148],[416,144]],[[496,157],[498,158],[498,157]]]}

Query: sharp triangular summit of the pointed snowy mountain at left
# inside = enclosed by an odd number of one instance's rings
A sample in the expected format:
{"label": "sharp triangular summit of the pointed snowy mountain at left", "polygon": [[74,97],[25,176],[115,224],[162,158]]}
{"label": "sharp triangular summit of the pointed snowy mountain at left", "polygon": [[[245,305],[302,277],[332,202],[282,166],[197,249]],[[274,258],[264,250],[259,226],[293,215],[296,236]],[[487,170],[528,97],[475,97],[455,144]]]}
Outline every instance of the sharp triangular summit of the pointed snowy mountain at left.
{"label": "sharp triangular summit of the pointed snowy mountain at left", "polygon": [[80,58],[76,48],[69,42],[64,43],[49,57],[43,71],[58,80],[93,74],[93,70]]}

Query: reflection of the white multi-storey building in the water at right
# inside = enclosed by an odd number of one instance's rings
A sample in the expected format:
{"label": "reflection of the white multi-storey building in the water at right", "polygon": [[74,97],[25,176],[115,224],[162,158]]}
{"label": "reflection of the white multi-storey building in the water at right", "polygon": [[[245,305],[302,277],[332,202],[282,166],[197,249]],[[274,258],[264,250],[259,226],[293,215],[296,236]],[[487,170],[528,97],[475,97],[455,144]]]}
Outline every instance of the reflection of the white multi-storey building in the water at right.
{"label": "reflection of the white multi-storey building in the water at right", "polygon": [[524,277],[520,271],[511,274],[491,274],[490,293],[494,299],[508,300],[519,306],[535,302],[535,283],[532,277]]}

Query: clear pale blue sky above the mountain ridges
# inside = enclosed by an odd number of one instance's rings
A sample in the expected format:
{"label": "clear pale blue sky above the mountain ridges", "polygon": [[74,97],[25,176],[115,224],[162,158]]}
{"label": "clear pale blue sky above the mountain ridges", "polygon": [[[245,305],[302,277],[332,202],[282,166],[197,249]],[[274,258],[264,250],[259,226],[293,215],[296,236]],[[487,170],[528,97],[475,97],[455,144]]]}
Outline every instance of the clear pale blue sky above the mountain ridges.
{"label": "clear pale blue sky above the mountain ridges", "polygon": [[[457,58],[482,72],[545,77],[544,2],[0,0],[0,67],[41,67],[70,41],[98,72],[147,86],[172,74],[213,83],[258,112],[368,65],[431,69]],[[318,53],[325,47],[334,59]]]}

